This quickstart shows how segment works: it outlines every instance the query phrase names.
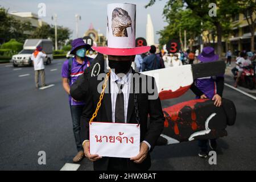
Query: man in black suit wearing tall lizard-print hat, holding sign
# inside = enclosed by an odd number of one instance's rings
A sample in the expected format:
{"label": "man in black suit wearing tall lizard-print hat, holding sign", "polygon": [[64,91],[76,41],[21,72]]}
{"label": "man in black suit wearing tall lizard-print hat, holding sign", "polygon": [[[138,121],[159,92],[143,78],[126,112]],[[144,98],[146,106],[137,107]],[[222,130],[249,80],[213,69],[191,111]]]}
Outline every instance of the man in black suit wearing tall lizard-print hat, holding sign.
{"label": "man in black suit wearing tall lizard-print hat, holding sign", "polygon": [[[108,47],[92,48],[108,55],[111,71],[103,77],[101,74],[80,80],[81,84],[74,84],[76,88],[71,88],[73,98],[83,96],[85,100],[81,117],[82,147],[86,158],[93,161],[94,170],[148,170],[151,166],[148,152],[153,150],[162,133],[165,118],[154,78],[135,73],[131,63],[135,55],[149,51],[150,47],[135,47],[136,5],[109,4],[107,13]],[[105,78],[108,82],[102,87]],[[104,97],[97,111],[101,93]],[[93,116],[94,111],[97,117]],[[92,119],[97,122],[138,123],[141,130],[139,154],[130,159],[90,154],[89,122]]]}

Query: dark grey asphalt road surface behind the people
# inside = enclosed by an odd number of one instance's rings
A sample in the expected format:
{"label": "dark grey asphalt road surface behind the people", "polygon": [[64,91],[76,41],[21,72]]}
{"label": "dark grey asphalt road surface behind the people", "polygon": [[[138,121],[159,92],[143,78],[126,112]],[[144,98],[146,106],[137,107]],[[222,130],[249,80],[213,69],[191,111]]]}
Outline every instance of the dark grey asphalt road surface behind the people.
{"label": "dark grey asphalt road surface behind the people", "polygon": [[[0,64],[0,170],[60,170],[72,163],[76,147],[61,85],[62,63],[54,60],[46,66],[46,82],[55,86],[45,90],[35,88],[32,67]],[[236,104],[237,122],[227,128],[228,137],[218,139],[217,165],[197,157],[196,142],[185,142],[155,147],[151,170],[255,170],[256,101],[226,86],[224,97]],[[193,98],[189,91],[162,106]],[[39,151],[46,152],[46,165],[38,164]],[[86,159],[79,164],[79,170],[92,169]]]}

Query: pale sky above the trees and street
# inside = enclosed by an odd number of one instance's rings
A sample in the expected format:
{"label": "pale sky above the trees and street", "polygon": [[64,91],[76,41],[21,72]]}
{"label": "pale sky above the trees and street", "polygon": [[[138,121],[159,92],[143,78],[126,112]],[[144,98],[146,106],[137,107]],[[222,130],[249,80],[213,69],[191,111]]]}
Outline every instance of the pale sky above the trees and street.
{"label": "pale sky above the trees and street", "polygon": [[42,19],[48,24],[54,24],[52,15],[57,14],[57,25],[68,27],[73,31],[72,39],[76,38],[75,14],[81,16],[79,20],[79,36],[82,37],[88,30],[90,23],[93,23],[95,30],[100,30],[106,36],[106,5],[109,3],[133,3],[137,5],[137,37],[146,38],[147,14],[151,15],[155,32],[155,43],[158,43],[157,31],[166,26],[163,18],[163,7],[167,0],[156,0],[152,7],[144,8],[150,0],[118,1],[118,0],[0,0],[0,6],[11,11],[29,11],[38,14],[39,3],[45,3],[46,16]]}

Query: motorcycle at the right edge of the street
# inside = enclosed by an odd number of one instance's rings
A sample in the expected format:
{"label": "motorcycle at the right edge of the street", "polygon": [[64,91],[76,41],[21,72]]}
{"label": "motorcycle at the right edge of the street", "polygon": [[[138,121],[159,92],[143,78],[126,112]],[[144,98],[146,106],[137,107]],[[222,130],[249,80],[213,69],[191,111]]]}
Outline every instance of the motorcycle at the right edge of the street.
{"label": "motorcycle at the right edge of the street", "polygon": [[[236,80],[237,75],[234,77]],[[255,69],[252,66],[243,67],[242,75],[240,80],[238,81],[238,85],[243,86],[245,88],[249,88],[250,90],[255,88]]]}

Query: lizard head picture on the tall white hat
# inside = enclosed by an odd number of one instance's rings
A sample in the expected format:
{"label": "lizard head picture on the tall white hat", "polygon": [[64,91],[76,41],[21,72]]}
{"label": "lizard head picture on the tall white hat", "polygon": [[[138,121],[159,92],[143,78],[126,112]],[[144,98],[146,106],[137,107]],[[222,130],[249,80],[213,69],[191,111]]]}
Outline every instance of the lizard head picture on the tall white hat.
{"label": "lizard head picture on the tall white hat", "polygon": [[[113,36],[128,37],[126,28],[131,27],[131,17],[127,11],[116,7],[112,13],[112,31]],[[133,31],[133,27],[131,27]]]}

